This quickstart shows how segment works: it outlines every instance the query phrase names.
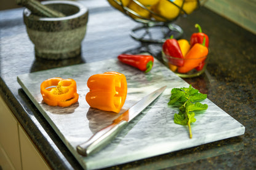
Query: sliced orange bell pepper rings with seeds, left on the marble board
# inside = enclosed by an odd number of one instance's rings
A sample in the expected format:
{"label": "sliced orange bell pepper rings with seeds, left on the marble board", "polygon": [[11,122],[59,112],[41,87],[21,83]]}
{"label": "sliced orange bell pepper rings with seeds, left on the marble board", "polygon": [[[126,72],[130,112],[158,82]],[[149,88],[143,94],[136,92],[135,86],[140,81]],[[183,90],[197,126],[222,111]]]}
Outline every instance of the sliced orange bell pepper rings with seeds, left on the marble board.
{"label": "sliced orange bell pepper rings with seeds, left on the marble board", "polygon": [[49,106],[68,107],[78,101],[76,81],[54,77],[41,83],[41,94]]}

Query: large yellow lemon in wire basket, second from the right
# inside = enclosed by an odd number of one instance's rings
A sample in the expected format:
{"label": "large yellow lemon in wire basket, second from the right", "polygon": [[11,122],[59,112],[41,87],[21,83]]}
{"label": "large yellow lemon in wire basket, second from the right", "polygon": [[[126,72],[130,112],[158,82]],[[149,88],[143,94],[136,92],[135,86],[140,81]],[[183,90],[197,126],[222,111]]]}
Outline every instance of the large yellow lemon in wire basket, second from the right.
{"label": "large yellow lemon in wire basket, second from the right", "polygon": [[[180,14],[180,7],[182,6],[183,0],[175,0],[173,3],[168,0],[159,0],[158,4],[156,4],[156,6],[152,10],[154,10],[156,14],[167,18],[167,20],[173,20]],[[175,6],[175,4],[177,6]],[[158,21],[165,21],[164,19],[156,15],[153,15],[153,18]]]}

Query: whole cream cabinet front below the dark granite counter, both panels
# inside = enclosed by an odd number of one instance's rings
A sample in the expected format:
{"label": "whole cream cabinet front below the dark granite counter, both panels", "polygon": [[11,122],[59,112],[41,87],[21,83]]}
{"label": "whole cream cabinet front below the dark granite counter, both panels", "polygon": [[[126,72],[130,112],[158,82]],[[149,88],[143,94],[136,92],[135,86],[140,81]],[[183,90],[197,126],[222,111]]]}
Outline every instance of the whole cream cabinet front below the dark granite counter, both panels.
{"label": "whole cream cabinet front below the dark granite counter, both panels", "polygon": [[1,97],[0,166],[3,170],[50,169]]}

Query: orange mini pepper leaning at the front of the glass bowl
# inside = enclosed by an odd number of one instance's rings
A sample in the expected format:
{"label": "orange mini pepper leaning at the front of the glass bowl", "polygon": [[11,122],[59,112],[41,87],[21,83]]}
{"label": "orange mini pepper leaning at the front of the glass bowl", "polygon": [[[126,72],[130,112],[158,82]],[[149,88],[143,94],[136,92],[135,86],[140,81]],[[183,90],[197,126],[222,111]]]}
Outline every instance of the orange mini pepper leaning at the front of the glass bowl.
{"label": "orange mini pepper leaning at the front of the glass bowl", "polygon": [[178,68],[178,72],[186,73],[196,68],[202,61],[206,60],[208,52],[208,48],[205,46],[205,39],[203,44],[194,44],[186,54],[184,64]]}

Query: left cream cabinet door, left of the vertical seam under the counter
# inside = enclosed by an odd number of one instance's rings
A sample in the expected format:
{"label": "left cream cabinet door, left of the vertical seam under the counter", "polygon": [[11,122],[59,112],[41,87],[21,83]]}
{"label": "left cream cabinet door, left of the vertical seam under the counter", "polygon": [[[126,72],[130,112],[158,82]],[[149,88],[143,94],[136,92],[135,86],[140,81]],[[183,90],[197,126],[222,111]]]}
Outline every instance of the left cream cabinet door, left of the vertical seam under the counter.
{"label": "left cream cabinet door, left of the vertical seam under the counter", "polygon": [[[2,168],[22,169],[20,145],[18,139],[18,122],[6,102],[0,96],[0,147]],[[5,161],[3,161],[5,159]],[[0,168],[1,169],[1,168]]]}

